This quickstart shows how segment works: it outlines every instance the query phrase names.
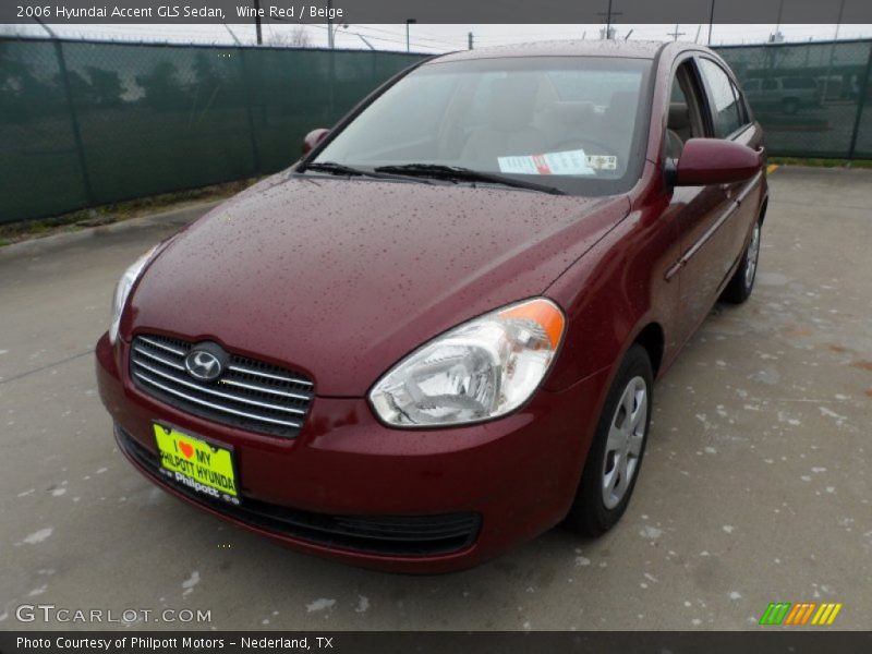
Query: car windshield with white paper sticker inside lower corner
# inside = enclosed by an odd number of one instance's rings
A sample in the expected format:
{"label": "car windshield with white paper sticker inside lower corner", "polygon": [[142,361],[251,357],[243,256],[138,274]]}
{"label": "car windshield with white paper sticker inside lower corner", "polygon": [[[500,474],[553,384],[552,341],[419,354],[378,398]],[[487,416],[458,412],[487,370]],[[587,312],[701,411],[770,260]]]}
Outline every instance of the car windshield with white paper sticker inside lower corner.
{"label": "car windshield with white paper sticker inside lower corner", "polygon": [[572,194],[622,192],[641,171],[650,68],[649,60],[595,57],[424,64],[313,162],[451,166]]}

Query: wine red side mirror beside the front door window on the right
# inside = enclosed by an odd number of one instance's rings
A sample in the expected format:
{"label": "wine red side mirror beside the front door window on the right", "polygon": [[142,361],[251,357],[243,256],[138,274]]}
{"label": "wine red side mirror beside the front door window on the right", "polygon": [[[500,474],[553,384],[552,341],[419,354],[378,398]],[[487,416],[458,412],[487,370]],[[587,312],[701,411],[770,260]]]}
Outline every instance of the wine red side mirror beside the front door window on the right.
{"label": "wine red side mirror beside the front door window on the right", "polygon": [[719,138],[690,138],[681,150],[673,179],[676,186],[729,184],[752,178],[761,166],[760,153],[747,145]]}

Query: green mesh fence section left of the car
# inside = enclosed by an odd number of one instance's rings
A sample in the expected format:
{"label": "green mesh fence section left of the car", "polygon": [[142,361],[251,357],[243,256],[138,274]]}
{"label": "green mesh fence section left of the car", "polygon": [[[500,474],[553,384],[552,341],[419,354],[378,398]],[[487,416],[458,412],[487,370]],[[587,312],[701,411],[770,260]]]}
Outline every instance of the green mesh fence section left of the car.
{"label": "green mesh fence section left of the car", "polygon": [[0,40],[0,222],[275,172],[417,59]]}

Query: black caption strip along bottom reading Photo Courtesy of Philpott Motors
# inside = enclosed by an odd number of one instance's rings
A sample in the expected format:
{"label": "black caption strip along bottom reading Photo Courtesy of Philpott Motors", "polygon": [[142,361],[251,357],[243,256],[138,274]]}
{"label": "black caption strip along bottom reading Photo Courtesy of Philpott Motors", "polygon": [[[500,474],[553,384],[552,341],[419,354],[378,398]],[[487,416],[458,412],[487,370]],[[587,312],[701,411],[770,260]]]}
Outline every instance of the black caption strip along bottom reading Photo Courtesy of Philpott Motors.
{"label": "black caption strip along bottom reading Photo Courtesy of Philpott Motors", "polygon": [[[775,629],[775,630],[772,630]],[[0,632],[2,654],[839,654],[872,652],[872,632],[761,627],[731,632]]]}

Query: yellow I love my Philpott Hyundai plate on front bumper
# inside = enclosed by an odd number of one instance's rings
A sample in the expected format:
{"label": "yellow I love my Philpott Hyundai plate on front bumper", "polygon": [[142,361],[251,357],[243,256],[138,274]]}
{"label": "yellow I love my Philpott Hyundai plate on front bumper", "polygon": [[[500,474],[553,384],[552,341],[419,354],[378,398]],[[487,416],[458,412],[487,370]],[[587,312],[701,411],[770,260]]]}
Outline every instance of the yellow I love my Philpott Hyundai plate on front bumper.
{"label": "yellow I love my Philpott Hyundai plate on front bumper", "polygon": [[233,450],[154,423],[160,472],[202,495],[239,505]]}

